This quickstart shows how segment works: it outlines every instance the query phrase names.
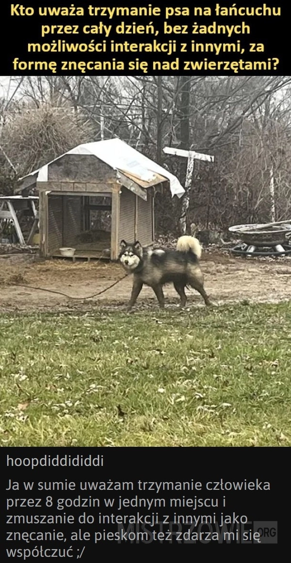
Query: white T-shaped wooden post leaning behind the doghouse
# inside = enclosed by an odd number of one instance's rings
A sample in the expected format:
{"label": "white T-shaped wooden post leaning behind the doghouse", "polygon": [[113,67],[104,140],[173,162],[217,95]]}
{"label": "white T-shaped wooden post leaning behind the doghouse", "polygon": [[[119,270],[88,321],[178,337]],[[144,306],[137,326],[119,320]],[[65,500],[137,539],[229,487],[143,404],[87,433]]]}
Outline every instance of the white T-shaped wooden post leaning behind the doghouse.
{"label": "white T-shaped wooden post leaning behind the doghouse", "polygon": [[185,180],[185,194],[182,199],[182,211],[179,219],[180,233],[185,235],[187,230],[187,212],[190,204],[190,191],[192,184],[192,175],[194,168],[194,160],[206,160],[207,162],[214,162],[214,157],[210,154],[196,153],[194,150],[183,150],[183,149],[172,149],[170,146],[166,146],[163,149],[166,154],[174,154],[178,157],[184,157],[188,159],[187,162],[187,172]]}

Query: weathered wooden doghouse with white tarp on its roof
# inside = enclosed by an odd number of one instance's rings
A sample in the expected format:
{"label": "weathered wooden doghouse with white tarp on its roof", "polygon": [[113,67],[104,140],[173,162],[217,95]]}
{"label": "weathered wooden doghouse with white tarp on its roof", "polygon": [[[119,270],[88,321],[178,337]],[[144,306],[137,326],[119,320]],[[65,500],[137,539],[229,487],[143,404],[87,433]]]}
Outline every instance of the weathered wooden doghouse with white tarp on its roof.
{"label": "weathered wooden doghouse with white tarp on its roof", "polygon": [[178,178],[118,138],[76,146],[20,178],[39,193],[40,254],[116,260],[121,239],[154,240],[154,194],[184,194]]}

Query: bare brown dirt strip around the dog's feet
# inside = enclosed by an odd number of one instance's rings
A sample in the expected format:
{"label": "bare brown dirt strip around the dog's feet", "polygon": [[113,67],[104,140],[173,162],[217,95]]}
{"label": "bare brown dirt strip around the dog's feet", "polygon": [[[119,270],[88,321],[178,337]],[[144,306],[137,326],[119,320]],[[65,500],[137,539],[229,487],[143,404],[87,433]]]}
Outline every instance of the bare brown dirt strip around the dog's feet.
{"label": "bare brown dirt strip around the dog's feet", "polygon": [[[213,251],[203,253],[201,267],[204,287],[217,305],[291,298],[290,258],[245,259],[233,257],[228,251]],[[2,312],[115,309],[126,305],[132,284],[132,276],[124,277],[121,266],[110,262],[39,261],[31,256],[25,260],[23,255],[16,261],[15,257],[0,256],[0,271]],[[121,281],[115,284],[117,280]],[[172,286],[166,285],[164,292],[167,306],[178,306],[179,297]],[[189,307],[204,306],[194,290],[188,291],[188,296]],[[137,309],[144,307],[157,308],[151,288],[144,287],[138,298]]]}

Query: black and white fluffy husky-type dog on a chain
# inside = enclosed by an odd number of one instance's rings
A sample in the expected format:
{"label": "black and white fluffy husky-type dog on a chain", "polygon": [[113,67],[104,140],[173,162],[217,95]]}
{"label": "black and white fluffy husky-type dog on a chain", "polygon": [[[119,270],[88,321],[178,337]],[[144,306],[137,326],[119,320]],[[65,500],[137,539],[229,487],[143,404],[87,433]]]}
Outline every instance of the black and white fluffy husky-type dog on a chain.
{"label": "black and white fluffy husky-type dog on a chain", "polygon": [[199,240],[194,236],[180,236],[176,250],[149,250],[143,248],[138,240],[134,243],[121,240],[119,261],[126,272],[133,274],[128,311],[137,301],[143,284],[153,289],[160,307],[165,306],[162,287],[166,283],[174,284],[181,307],[186,305],[185,287],[189,286],[201,294],[206,305],[211,305],[204,291],[203,274],[199,266],[201,252]]}

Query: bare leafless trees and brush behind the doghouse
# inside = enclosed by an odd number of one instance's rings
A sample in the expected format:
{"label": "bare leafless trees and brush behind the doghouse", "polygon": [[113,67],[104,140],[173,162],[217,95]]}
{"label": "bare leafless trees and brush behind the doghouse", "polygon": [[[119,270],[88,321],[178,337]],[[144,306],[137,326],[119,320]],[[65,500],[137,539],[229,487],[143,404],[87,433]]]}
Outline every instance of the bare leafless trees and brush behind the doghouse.
{"label": "bare leafless trees and brush behind the doghouse", "polygon": [[226,229],[269,221],[272,209],[281,220],[291,210],[290,83],[272,76],[13,77],[16,94],[2,103],[2,148],[13,167],[26,170],[80,140],[116,136],[181,182],[185,163],[163,154],[163,146],[214,154],[214,165],[195,165],[182,202],[157,197],[163,231],[178,230],[181,215],[188,229],[192,222]]}

